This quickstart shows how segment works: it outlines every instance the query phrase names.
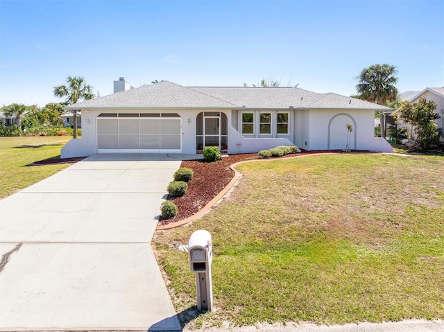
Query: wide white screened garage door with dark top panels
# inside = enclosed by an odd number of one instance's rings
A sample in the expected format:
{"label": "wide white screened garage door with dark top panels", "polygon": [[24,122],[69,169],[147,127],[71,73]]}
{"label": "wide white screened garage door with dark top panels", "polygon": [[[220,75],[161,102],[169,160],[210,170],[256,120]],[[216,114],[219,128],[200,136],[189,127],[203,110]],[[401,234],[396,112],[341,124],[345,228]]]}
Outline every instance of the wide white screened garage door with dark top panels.
{"label": "wide white screened garage door with dark top panels", "polygon": [[176,113],[102,113],[98,153],[181,153],[182,123]]}

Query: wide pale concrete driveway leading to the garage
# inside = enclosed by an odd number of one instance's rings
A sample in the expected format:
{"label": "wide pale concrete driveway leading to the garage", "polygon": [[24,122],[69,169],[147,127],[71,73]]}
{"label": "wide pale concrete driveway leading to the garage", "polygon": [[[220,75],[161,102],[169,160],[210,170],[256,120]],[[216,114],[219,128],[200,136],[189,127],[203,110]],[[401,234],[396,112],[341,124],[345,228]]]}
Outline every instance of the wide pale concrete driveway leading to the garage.
{"label": "wide pale concrete driveway leading to the garage", "polygon": [[180,331],[150,242],[182,157],[94,155],[0,200],[0,331]]}

